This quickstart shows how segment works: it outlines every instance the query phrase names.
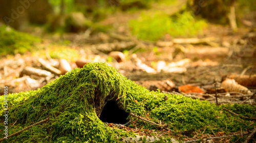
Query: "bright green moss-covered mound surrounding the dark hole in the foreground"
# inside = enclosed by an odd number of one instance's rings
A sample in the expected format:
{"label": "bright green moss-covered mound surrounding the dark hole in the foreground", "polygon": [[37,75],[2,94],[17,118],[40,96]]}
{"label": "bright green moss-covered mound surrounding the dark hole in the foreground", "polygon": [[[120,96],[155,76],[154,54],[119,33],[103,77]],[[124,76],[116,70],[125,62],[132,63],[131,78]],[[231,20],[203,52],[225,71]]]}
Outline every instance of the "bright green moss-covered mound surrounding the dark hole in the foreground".
{"label": "bright green moss-covered mound surrounding the dark hole in the foreground", "polygon": [[[168,128],[176,131],[174,134],[199,129],[212,134],[211,128],[215,133],[228,134],[241,129],[251,130],[256,126],[250,120],[222,110],[226,107],[252,117],[256,115],[255,106],[216,106],[180,95],[150,92],[105,63],[90,63],[68,72],[37,91],[8,95],[8,135],[46,118],[50,120],[4,142],[120,142],[122,136],[133,136],[132,132],[112,129],[101,122],[100,113],[109,100],[116,101],[126,112],[154,122],[163,121]],[[0,101],[0,119],[3,123],[4,96],[1,96]],[[134,121],[130,127],[136,125],[137,128],[157,130],[150,123]],[[0,127],[3,135],[5,125],[1,124]]]}

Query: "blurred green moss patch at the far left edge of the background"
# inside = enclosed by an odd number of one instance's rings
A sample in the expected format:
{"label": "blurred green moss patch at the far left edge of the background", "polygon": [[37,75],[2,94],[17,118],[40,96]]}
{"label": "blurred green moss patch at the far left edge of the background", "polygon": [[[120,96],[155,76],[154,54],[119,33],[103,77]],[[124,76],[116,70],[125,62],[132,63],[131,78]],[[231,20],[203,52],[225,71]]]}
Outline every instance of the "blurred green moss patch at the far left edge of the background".
{"label": "blurred green moss patch at the far left edge of the background", "polygon": [[0,26],[0,55],[24,53],[34,49],[35,42],[40,42],[39,38],[27,33],[17,32],[13,28]]}

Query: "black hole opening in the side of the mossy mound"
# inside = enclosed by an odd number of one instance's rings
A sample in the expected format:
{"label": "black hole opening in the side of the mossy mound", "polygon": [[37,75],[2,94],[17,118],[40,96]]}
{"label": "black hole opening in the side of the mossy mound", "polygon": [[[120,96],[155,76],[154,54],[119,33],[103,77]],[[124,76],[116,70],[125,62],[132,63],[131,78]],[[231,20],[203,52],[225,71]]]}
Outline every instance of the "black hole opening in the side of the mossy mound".
{"label": "black hole opening in the side of the mossy mound", "polygon": [[115,101],[108,101],[104,106],[99,119],[102,122],[115,123],[115,124],[125,124],[127,122],[126,118],[129,113],[120,109]]}

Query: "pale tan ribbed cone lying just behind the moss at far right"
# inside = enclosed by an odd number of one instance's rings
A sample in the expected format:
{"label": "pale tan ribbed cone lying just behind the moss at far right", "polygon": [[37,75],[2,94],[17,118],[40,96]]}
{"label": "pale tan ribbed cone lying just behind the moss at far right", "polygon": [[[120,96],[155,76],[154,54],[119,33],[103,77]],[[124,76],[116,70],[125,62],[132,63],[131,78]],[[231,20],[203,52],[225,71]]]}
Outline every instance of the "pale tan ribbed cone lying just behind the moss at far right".
{"label": "pale tan ribbed cone lying just behind the moss at far right", "polygon": [[238,84],[234,79],[227,78],[221,83],[227,92],[239,92],[243,94],[251,94],[251,92],[243,85]]}

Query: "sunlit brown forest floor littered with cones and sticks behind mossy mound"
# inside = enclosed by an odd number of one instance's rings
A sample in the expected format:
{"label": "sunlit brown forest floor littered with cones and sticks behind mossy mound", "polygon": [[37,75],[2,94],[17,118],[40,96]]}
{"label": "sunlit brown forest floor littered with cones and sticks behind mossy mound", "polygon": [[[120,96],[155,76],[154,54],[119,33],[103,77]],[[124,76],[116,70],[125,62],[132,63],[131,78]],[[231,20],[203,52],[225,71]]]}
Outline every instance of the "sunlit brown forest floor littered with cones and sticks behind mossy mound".
{"label": "sunlit brown forest floor littered with cones and sticks behind mossy mound", "polygon": [[[116,32],[45,35],[38,44],[40,51],[0,59],[0,95],[5,86],[9,93],[17,93],[36,90],[58,78],[60,74],[52,71],[48,76],[25,71],[26,67],[47,69],[38,61],[42,58],[59,70],[60,59],[68,61],[64,69],[107,62],[148,90],[160,89],[211,103],[217,102],[217,94],[219,104],[256,104],[255,30],[239,27],[233,32],[229,25],[207,23],[203,35],[197,38],[166,34],[156,42],[143,41],[131,36],[125,25],[127,19],[137,16],[117,14],[102,22],[116,23]],[[70,43],[63,44],[65,41]]]}

